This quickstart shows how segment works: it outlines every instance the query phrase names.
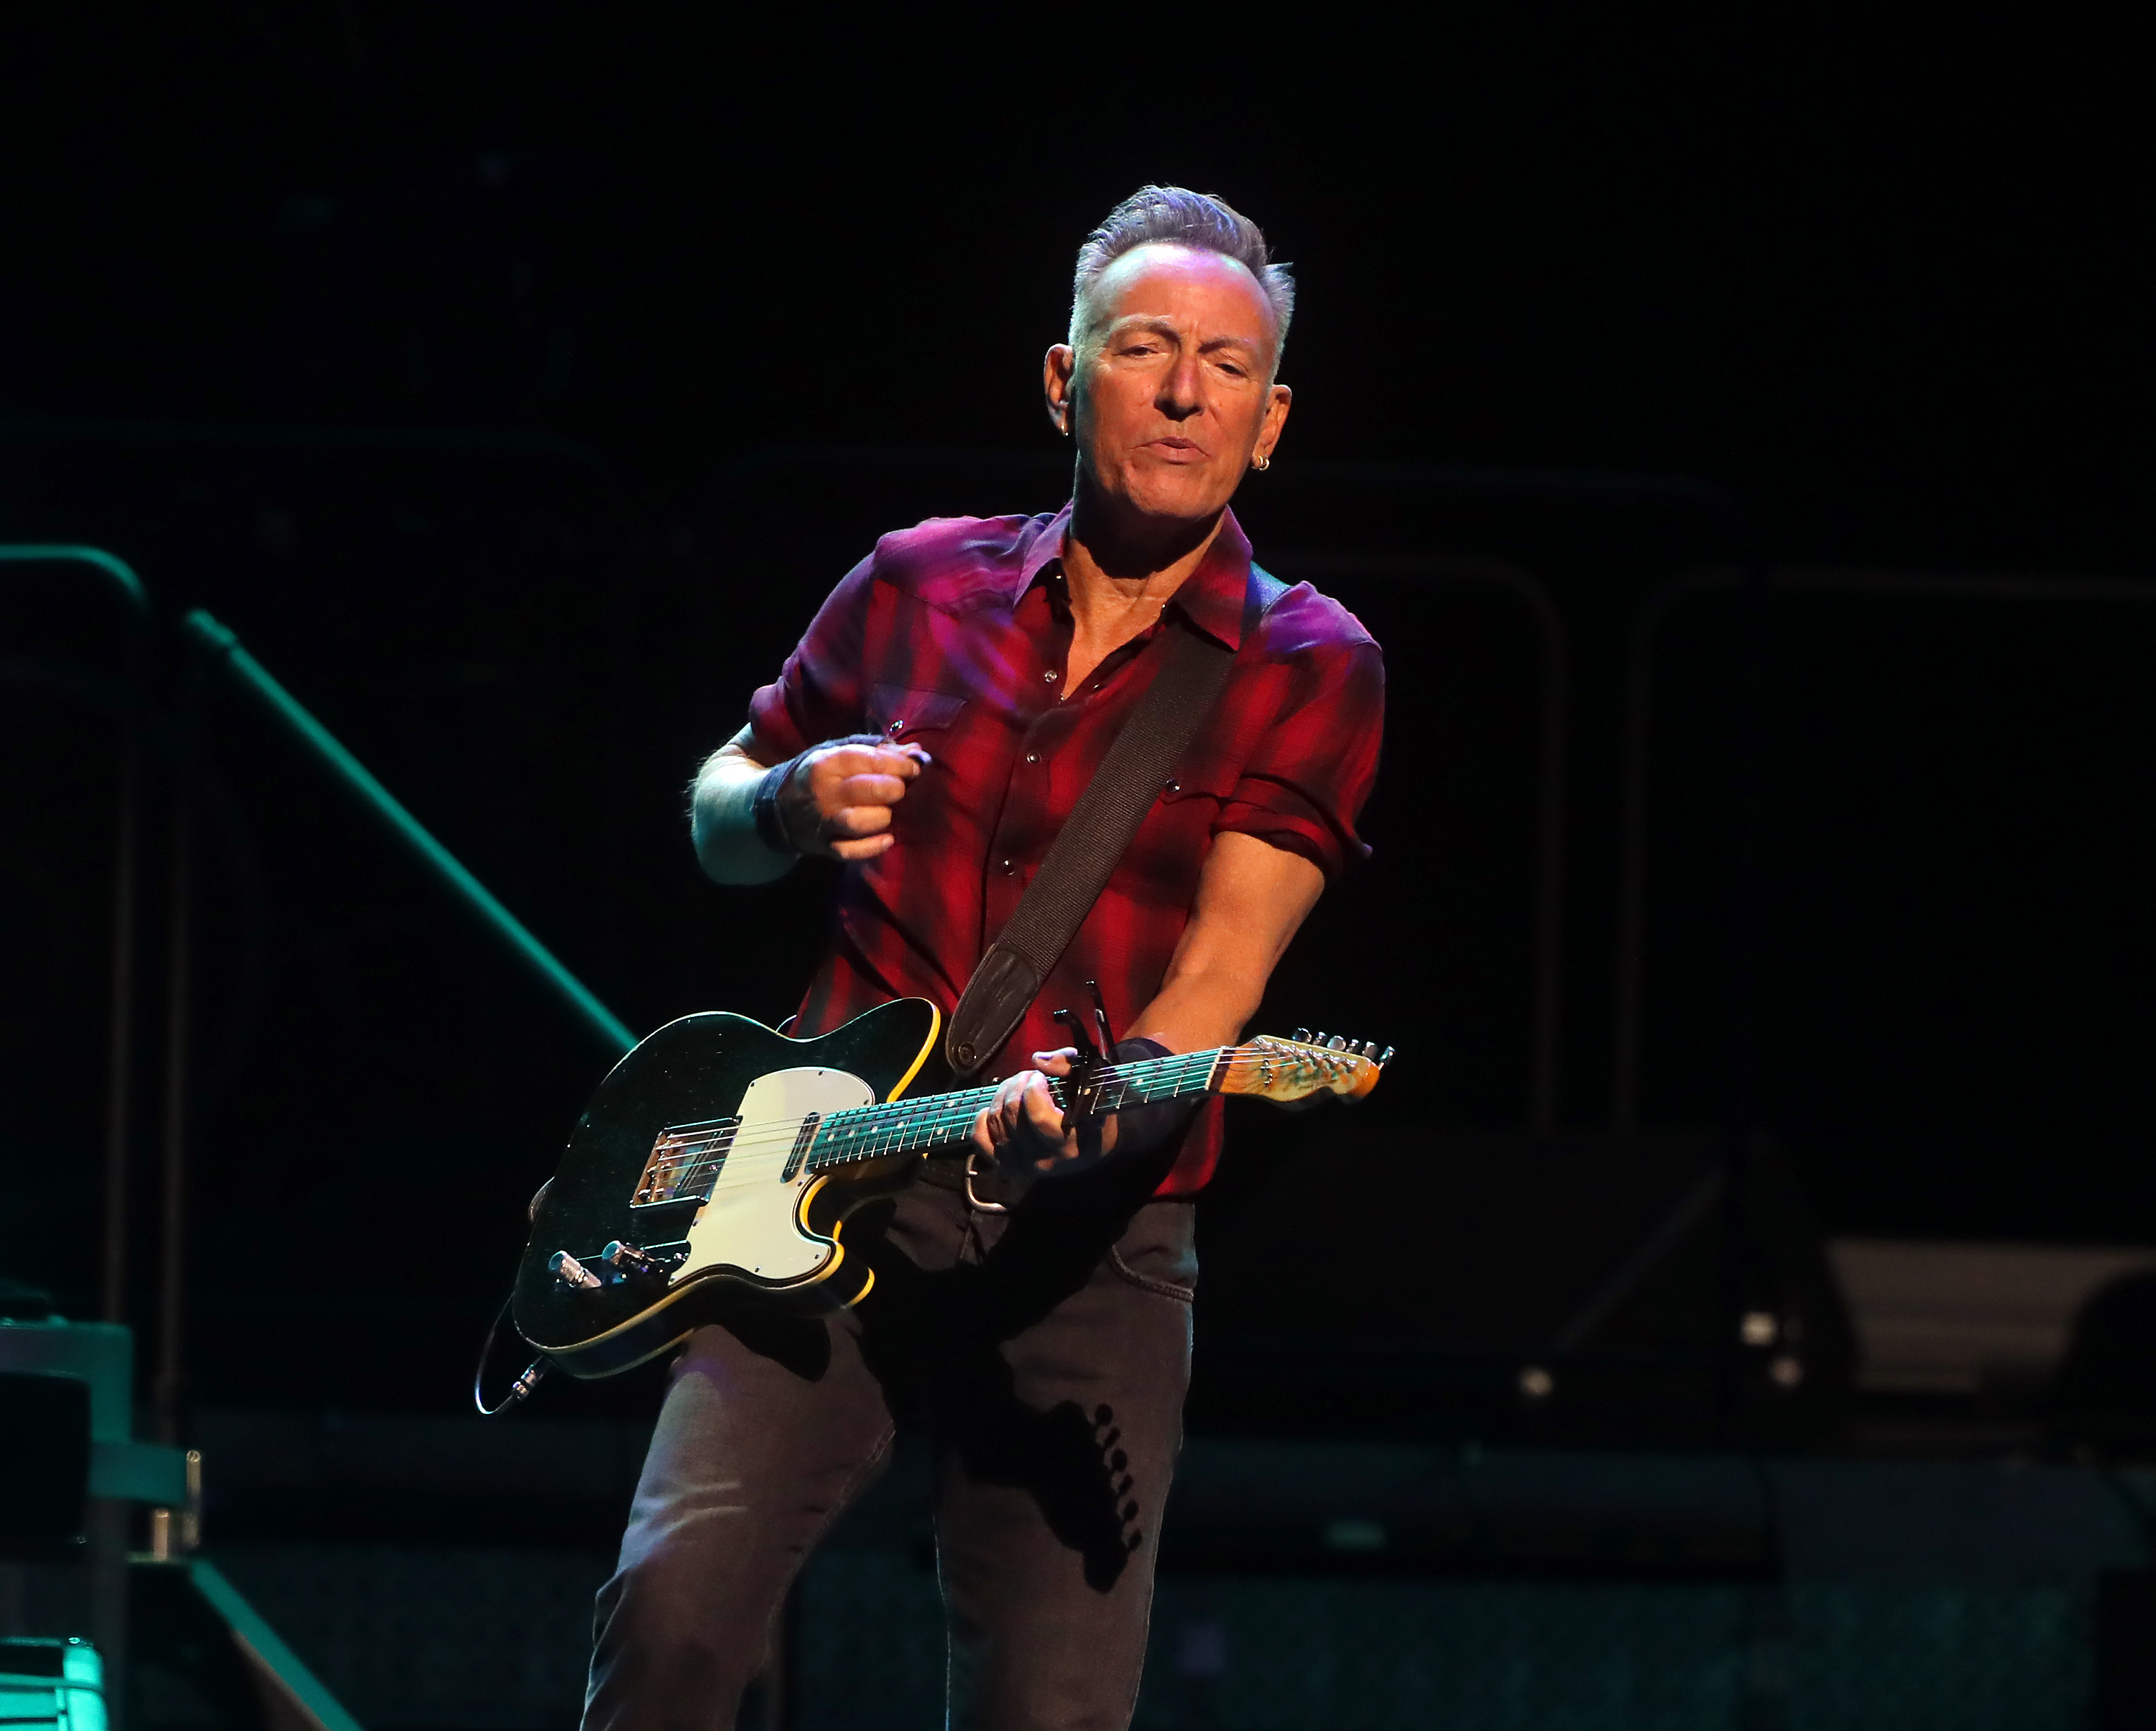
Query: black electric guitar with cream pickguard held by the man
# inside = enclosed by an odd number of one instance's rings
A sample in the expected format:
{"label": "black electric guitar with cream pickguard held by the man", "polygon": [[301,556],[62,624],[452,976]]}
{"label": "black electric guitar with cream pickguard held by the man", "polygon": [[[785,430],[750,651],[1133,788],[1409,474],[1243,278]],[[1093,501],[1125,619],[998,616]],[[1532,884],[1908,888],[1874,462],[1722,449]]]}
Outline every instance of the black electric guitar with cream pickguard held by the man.
{"label": "black electric guitar with cream pickguard held by the man", "polygon": [[[1302,1033],[1106,1063],[1067,1026],[1080,1061],[1050,1093],[1074,1119],[1205,1093],[1360,1099],[1393,1056]],[[875,1274],[845,1255],[845,1216],[962,1147],[996,1093],[938,1091],[940,1035],[927,998],[819,1039],[727,1013],[668,1022],[599,1084],[539,1196],[517,1332],[569,1375],[604,1377],[735,1304],[858,1304]]]}

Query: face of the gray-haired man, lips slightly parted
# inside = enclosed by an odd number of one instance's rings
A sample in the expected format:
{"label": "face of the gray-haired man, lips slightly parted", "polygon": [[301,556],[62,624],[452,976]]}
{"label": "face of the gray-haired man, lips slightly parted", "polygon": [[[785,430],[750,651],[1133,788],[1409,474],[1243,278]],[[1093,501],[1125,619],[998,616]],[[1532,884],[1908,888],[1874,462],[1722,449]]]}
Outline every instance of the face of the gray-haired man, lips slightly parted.
{"label": "face of the gray-haired man, lips slightly parted", "polygon": [[1266,291],[1233,259],[1153,244],[1108,265],[1093,330],[1065,362],[1093,487],[1147,517],[1218,513],[1287,418],[1272,345]]}

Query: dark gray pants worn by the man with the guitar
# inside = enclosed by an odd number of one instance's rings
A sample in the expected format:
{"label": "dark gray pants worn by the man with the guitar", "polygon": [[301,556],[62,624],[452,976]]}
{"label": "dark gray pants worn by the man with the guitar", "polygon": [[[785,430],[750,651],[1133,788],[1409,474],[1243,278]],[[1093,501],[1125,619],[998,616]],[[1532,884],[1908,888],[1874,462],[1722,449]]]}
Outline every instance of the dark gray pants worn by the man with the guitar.
{"label": "dark gray pants worn by the man with the guitar", "polygon": [[599,1591],[586,1731],[733,1731],[787,1587],[899,1418],[936,1442],[949,1722],[1125,1727],[1197,1280],[1194,1205],[1147,1201],[1158,1177],[1110,1164],[985,1214],[931,1166],[847,1222],[875,1265],[858,1308],[701,1328]]}

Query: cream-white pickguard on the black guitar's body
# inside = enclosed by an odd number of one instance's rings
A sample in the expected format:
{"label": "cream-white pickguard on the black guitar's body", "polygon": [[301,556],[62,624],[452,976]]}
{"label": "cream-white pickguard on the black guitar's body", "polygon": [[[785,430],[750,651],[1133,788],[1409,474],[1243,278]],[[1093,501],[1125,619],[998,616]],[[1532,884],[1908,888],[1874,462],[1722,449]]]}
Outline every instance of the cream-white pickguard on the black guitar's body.
{"label": "cream-white pickguard on the black guitar's body", "polygon": [[688,1255],[673,1270],[673,1280],[707,1268],[737,1268],[759,1280],[815,1274],[832,1246],[796,1224],[802,1192],[815,1183],[815,1173],[802,1162],[802,1171],[787,1179],[785,1153],[811,1112],[873,1104],[875,1091],[843,1069],[774,1069],[750,1082],[733,1151],[709,1201],[696,1211],[696,1224],[688,1229]]}

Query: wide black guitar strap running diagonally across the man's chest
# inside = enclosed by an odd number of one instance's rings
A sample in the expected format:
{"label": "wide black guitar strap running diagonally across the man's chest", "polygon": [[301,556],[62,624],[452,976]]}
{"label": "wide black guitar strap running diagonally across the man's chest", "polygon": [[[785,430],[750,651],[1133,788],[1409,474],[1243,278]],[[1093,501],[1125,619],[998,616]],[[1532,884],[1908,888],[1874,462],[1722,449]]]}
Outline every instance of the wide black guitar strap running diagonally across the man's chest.
{"label": "wide black guitar strap running diagonally across the man's chest", "polygon": [[[1257,614],[1285,593],[1285,584],[1253,565],[1244,629],[1248,632]],[[1100,892],[1108,888],[1115,862],[1145,823],[1169,772],[1212,714],[1235,662],[1233,649],[1181,625],[1171,627],[1162,649],[1166,662],[1115,735],[1100,770],[1048,847],[1048,858],[1018,899],[1011,923],[981,957],[957,1009],[951,1011],[944,1056],[959,1080],[996,1056],[1024,1020],[1048,981],[1048,970],[1056,966],[1100,901]]]}

